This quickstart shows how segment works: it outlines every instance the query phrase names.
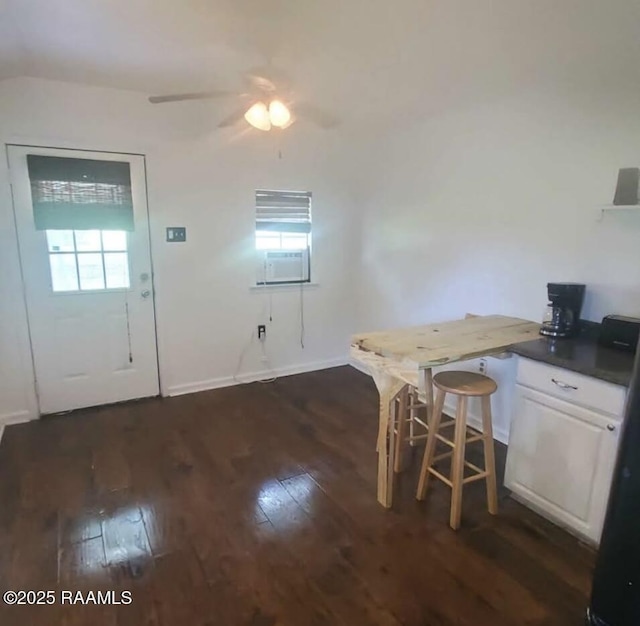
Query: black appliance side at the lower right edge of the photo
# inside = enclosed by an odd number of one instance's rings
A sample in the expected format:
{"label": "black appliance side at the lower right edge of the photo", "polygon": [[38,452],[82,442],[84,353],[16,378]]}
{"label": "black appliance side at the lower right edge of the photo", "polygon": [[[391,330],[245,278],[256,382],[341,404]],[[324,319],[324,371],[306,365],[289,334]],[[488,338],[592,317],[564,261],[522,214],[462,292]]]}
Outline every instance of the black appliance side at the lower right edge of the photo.
{"label": "black appliance side at the lower right edge of the photo", "polygon": [[640,624],[640,350],[629,388],[587,624]]}

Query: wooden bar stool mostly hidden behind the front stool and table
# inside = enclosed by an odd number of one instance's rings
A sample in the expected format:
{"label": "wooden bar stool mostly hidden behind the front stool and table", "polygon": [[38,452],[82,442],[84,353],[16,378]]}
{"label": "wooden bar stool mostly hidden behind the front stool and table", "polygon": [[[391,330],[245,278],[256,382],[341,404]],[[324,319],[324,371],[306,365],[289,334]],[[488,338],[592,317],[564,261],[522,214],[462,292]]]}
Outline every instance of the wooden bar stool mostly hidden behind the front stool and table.
{"label": "wooden bar stool mostly hidden behind the front stool and table", "polygon": [[[407,446],[415,446],[419,441],[427,439],[429,420],[433,408],[433,375],[431,369],[422,370],[425,402],[419,397],[419,390],[407,385],[396,398],[395,407],[395,458],[393,471],[398,473],[405,469]],[[424,409],[424,414],[420,413]],[[422,432],[419,432],[419,431]]]}

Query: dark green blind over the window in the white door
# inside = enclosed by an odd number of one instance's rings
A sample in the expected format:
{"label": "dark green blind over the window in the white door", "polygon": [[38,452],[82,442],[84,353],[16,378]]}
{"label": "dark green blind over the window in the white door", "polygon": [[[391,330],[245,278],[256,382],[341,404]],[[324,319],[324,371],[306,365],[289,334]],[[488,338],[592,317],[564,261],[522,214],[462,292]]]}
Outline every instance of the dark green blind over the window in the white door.
{"label": "dark green blind over the window in the white door", "polygon": [[129,163],[27,155],[36,230],[134,230]]}

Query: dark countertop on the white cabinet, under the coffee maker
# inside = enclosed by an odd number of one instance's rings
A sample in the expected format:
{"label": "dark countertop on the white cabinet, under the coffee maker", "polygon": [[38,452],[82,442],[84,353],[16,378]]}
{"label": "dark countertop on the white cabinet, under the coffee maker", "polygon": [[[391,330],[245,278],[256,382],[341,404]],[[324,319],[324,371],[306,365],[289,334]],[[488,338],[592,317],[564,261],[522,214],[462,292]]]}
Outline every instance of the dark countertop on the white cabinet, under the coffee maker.
{"label": "dark countertop on the white cabinet, under the coffee maker", "polygon": [[631,382],[634,355],[604,348],[591,337],[575,339],[540,337],[533,341],[514,344],[509,352],[616,385],[628,387]]}

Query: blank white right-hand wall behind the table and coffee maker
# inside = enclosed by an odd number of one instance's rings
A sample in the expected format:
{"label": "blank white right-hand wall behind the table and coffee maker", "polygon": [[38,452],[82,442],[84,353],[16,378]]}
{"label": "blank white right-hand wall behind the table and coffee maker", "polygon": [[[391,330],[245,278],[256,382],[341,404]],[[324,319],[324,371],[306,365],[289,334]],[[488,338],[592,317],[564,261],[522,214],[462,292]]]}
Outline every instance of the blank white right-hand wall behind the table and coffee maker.
{"label": "blank white right-hand wall behind the table and coffee maker", "polygon": [[364,202],[360,328],[540,320],[548,281],[586,283],[587,319],[640,315],[640,212],[597,210],[618,168],[640,166],[640,98],[575,104],[519,94],[387,138]]}

